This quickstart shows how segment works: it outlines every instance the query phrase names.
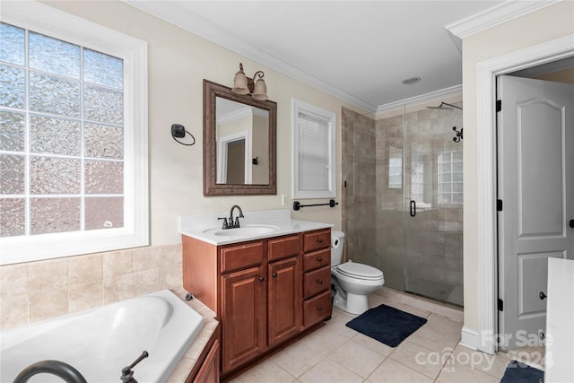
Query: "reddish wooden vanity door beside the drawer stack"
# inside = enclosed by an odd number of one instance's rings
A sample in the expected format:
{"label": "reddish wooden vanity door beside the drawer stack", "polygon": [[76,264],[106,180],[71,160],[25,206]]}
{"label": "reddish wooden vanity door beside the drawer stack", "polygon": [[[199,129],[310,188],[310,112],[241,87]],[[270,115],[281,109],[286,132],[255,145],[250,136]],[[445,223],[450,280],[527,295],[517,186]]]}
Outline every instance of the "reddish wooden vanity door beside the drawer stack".
{"label": "reddish wooden vanity door beside the drawer stack", "polygon": [[300,276],[299,257],[269,264],[269,346],[274,346],[300,331]]}

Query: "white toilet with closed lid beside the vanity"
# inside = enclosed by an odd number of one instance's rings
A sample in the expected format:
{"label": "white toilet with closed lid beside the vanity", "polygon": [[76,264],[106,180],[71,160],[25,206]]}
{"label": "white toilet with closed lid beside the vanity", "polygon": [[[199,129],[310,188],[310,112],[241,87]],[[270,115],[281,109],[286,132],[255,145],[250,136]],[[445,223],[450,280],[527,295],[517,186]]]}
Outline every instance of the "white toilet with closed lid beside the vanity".
{"label": "white toilet with closed lid beside the vanity", "polygon": [[351,314],[362,314],[369,309],[368,296],[384,283],[378,268],[347,261],[343,257],[344,232],[331,231],[331,283],[335,285],[334,305]]}

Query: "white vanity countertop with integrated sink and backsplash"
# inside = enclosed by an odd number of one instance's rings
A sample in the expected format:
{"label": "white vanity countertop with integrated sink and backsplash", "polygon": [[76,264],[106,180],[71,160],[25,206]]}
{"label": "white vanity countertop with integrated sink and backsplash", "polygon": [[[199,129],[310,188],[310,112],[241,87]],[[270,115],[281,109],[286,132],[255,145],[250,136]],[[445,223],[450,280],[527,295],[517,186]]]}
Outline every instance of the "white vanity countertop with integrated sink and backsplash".
{"label": "white vanity countertop with integrated sink and backsplash", "polygon": [[[253,239],[263,239],[279,237],[282,235],[298,233],[302,231],[314,231],[318,229],[332,228],[334,225],[325,222],[311,222],[302,220],[292,220],[289,209],[281,210],[257,210],[252,212],[243,212],[244,218],[239,218],[241,227],[254,225],[273,226],[276,229],[271,232],[254,234],[248,236],[237,235],[215,235],[215,231],[222,229],[222,220],[218,218],[228,218],[229,212],[209,215],[185,215],[179,217],[179,233],[203,240],[213,245],[226,245],[230,243],[244,242]],[[239,214],[236,209],[233,212],[234,217]]]}

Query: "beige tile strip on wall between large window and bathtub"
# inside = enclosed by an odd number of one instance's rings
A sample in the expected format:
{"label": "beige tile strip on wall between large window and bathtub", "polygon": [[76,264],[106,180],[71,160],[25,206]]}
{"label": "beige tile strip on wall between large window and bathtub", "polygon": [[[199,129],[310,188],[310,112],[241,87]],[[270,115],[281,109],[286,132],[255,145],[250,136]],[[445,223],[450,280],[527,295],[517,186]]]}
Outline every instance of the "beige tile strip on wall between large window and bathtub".
{"label": "beige tile strip on wall between large window and bathtub", "polygon": [[181,287],[181,244],[0,266],[0,329]]}

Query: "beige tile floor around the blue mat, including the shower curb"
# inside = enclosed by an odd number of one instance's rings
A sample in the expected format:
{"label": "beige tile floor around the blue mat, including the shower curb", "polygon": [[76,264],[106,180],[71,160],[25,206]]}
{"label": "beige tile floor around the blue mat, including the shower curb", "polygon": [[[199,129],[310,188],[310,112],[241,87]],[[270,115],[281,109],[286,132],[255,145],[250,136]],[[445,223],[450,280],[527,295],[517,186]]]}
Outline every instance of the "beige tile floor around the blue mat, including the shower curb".
{"label": "beige tile floor around the blue mat, including the shower curb", "polygon": [[370,307],[381,303],[428,322],[391,348],[345,326],[356,316],[334,309],[326,326],[231,381],[500,382],[509,355],[489,355],[458,345],[462,309],[385,287],[370,296]]}

